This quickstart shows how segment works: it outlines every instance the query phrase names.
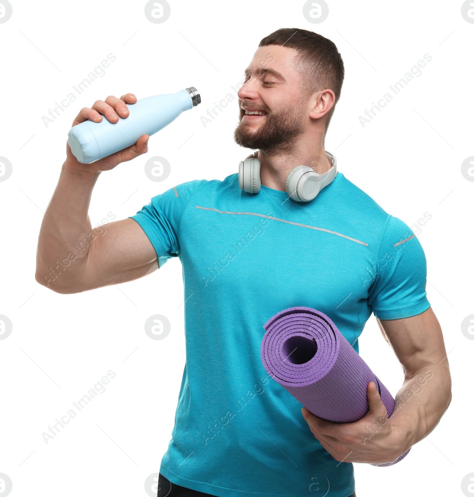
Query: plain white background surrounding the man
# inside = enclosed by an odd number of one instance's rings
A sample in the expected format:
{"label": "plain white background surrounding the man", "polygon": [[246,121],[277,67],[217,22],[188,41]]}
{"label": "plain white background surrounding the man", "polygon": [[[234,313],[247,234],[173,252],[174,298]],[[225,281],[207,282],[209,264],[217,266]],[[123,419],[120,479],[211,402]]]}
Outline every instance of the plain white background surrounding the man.
{"label": "plain white background surrounding the man", "polygon": [[[327,2],[327,19],[313,24],[303,16],[304,1],[170,0],[169,19],[155,24],[144,15],[145,1],[11,0],[13,15],[0,24],[0,156],[13,168],[0,182],[0,314],[13,323],[0,340],[0,473],[13,482],[11,496],[146,496],[145,479],[158,472],[171,436],[185,363],[178,259],[144,279],[75,295],[34,279],[42,211],[74,117],[127,91],[141,98],[196,86],[202,97],[150,139],[148,155],[102,173],[93,226],[110,212],[116,219],[135,214],[184,181],[222,179],[249,153],[233,141],[237,98],[206,127],[200,116],[235,95],[231,85],[258,42],[280,27],[314,30],[342,54],[346,76],[325,144],[339,170],[409,226],[432,214],[418,236],[428,299],[449,352],[453,401],[403,462],[355,464],[357,495],[463,495],[461,480],[474,472],[474,340],[461,332],[462,320],[474,314],[474,182],[461,174],[474,155],[474,24],[463,19],[460,1]],[[42,116],[109,53],[116,60],[105,76],[46,127]],[[432,61],[422,75],[362,127],[358,116],[426,53]],[[145,175],[152,156],[171,164],[165,181]],[[171,323],[163,340],[144,331],[153,314]],[[395,395],[401,368],[373,317],[359,342],[361,356]],[[116,377],[106,391],[46,444],[42,433],[110,369]]]}

